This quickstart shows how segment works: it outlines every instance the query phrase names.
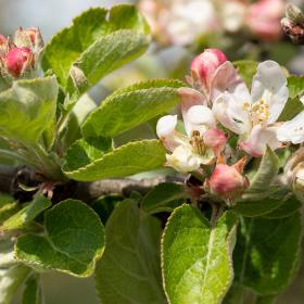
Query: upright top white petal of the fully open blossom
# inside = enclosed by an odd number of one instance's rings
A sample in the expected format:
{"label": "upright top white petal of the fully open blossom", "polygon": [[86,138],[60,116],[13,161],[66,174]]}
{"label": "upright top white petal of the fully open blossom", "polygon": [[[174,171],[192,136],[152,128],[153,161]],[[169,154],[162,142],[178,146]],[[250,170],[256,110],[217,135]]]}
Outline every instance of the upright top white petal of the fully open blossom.
{"label": "upright top white petal of the fully open blossom", "polygon": [[257,66],[252,81],[252,102],[264,101],[269,105],[269,124],[280,116],[289,97],[287,78],[275,61],[265,61]]}

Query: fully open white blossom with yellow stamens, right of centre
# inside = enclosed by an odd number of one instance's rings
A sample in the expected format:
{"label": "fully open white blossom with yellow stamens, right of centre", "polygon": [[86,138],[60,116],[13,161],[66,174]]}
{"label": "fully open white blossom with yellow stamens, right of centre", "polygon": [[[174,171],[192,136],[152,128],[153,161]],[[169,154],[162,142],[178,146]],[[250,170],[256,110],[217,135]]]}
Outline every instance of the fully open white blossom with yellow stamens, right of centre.
{"label": "fully open white blossom with yellow stamens, right of centre", "polygon": [[282,144],[276,124],[289,97],[287,78],[278,63],[265,61],[257,66],[251,93],[239,83],[216,98],[213,112],[218,122],[240,136],[239,147],[252,156]]}

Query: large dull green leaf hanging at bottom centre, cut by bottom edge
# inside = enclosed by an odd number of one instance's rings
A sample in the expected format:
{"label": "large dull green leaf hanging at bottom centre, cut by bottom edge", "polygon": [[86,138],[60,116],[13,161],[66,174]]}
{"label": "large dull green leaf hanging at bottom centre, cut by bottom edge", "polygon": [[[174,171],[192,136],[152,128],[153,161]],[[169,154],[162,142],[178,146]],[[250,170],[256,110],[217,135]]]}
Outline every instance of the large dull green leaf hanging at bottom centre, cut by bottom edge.
{"label": "large dull green leaf hanging at bottom centre, cut by bottom edge", "polygon": [[96,270],[101,303],[166,303],[160,267],[159,220],[141,212],[132,200],[111,215],[106,246]]}

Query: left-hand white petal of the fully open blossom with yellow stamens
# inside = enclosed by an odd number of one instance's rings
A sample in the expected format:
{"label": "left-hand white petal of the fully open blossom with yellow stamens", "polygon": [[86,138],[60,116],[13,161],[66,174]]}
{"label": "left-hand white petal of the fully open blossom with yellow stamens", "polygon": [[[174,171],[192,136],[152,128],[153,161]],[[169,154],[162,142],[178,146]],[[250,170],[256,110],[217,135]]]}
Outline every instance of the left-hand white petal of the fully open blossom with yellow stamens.
{"label": "left-hand white petal of the fully open blossom with yellow stamens", "polygon": [[239,135],[250,131],[250,100],[244,100],[241,93],[223,93],[215,100],[212,110],[216,119],[227,129]]}

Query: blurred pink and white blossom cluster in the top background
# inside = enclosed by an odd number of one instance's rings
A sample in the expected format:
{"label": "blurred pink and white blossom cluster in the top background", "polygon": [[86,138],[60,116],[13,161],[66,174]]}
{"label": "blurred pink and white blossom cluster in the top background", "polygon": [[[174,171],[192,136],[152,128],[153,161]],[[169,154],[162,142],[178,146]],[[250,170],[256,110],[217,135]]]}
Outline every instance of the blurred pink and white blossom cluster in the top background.
{"label": "blurred pink and white blossom cluster in the top background", "polygon": [[186,46],[211,33],[243,28],[267,41],[282,34],[283,0],[141,0],[139,8],[162,43]]}

